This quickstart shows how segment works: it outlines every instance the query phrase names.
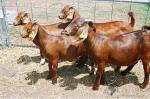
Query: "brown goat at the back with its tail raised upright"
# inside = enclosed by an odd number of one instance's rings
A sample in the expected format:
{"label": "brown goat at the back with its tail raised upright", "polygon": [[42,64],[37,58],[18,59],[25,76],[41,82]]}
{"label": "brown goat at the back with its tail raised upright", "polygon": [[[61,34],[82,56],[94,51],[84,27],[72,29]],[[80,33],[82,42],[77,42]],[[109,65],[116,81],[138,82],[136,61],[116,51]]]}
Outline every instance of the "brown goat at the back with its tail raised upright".
{"label": "brown goat at the back with its tail raised upright", "polygon": [[[132,32],[135,25],[135,18],[132,12],[129,12],[128,15],[131,17],[131,22],[127,23],[124,21],[112,21],[105,23],[93,23],[96,26],[97,31],[102,33],[112,35],[112,34],[121,34],[126,32]],[[71,19],[68,20],[68,17]],[[76,18],[79,18],[80,15],[78,11],[71,5],[66,5],[60,12],[59,19],[67,20],[67,22],[72,21]],[[67,30],[67,28],[65,29]],[[63,32],[65,34],[65,32]],[[69,32],[70,33],[70,32]]]}

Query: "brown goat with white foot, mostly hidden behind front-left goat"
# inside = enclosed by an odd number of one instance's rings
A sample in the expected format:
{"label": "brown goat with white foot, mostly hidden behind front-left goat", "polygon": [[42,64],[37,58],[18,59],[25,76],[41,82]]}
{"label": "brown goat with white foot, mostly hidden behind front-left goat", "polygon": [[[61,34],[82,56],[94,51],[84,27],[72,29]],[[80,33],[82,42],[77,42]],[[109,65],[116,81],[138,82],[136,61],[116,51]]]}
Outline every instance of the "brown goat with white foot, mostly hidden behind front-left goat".
{"label": "brown goat with white foot, mostly hidden behind front-left goat", "polygon": [[[31,18],[29,17],[29,14],[25,11],[20,11],[14,21],[14,26],[19,26],[19,25],[25,25],[27,23],[31,22]],[[46,30],[50,31],[50,35],[61,35],[61,31],[69,24],[68,23],[55,23],[55,24],[49,24],[49,25],[42,25],[43,28],[45,28]],[[42,50],[40,49],[40,55],[41,55],[41,61],[40,64],[43,65],[45,63],[45,58],[43,55]],[[79,58],[77,63],[78,65],[82,65],[84,64],[84,58],[86,58],[85,56],[82,56],[81,58]],[[82,63],[83,62],[83,63]]]}

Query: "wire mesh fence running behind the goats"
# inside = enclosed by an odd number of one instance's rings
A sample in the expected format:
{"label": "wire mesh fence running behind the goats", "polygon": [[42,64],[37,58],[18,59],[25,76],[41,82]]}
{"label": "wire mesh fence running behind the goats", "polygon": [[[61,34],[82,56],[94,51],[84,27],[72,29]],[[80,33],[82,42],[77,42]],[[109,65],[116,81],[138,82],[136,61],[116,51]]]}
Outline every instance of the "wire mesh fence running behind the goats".
{"label": "wire mesh fence running behind the goats", "polygon": [[[4,0],[3,0],[4,1]],[[123,0],[122,0],[123,1]],[[66,4],[73,4],[82,17],[96,22],[111,20],[129,21],[127,13],[134,12],[136,17],[135,29],[147,24],[150,25],[150,4],[148,2],[133,2],[132,0],[5,0],[3,8],[6,10],[6,20],[12,23],[18,11],[28,11],[32,19],[41,24],[59,22],[59,11]],[[136,1],[136,0],[134,0]],[[144,0],[143,0],[144,1]],[[8,32],[11,43],[18,43],[19,31],[9,25]],[[2,37],[3,38],[3,37]],[[17,39],[16,39],[17,38]],[[16,39],[16,40],[15,40]],[[22,43],[22,39],[20,42]]]}

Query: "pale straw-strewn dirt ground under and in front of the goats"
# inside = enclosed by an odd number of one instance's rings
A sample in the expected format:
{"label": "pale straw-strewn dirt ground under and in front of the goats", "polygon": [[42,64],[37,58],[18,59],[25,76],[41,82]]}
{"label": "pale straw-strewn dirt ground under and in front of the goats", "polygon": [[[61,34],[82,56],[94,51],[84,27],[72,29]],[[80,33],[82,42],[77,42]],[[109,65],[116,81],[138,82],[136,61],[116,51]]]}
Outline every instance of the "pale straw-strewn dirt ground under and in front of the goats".
{"label": "pale straw-strewn dirt ground under and in front of the goats", "polygon": [[[27,41],[26,41],[27,42]],[[32,45],[29,43],[29,45]],[[78,68],[70,62],[59,63],[56,85],[47,80],[48,65],[40,65],[39,50],[34,46],[17,46],[0,50],[0,98],[2,99],[149,99],[150,84],[140,89],[143,68],[139,62],[125,77],[106,68],[105,84],[92,90],[95,79],[89,67]],[[124,69],[124,68],[123,68]]]}

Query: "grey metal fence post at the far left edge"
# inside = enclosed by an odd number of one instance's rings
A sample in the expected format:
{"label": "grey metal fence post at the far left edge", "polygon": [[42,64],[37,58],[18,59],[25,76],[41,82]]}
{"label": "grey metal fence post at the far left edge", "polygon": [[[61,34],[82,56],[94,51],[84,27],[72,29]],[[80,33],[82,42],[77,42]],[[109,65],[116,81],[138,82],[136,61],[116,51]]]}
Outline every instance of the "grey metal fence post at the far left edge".
{"label": "grey metal fence post at the far left edge", "polygon": [[1,8],[1,18],[0,18],[0,27],[1,27],[1,39],[2,47],[10,47],[9,32],[8,32],[8,23],[6,21],[6,9],[5,9],[5,0],[0,0]]}

